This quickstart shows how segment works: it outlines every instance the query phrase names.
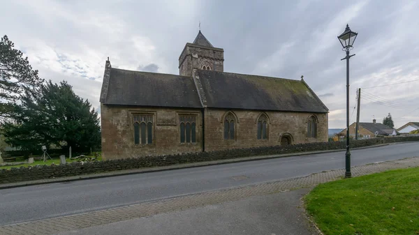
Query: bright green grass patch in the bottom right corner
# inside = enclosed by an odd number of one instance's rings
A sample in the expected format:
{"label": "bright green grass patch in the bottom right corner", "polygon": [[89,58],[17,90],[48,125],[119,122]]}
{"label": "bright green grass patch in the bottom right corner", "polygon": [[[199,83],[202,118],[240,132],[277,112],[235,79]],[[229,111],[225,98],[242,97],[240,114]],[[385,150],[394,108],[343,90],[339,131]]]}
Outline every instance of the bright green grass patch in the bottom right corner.
{"label": "bright green grass patch in the bottom right corner", "polygon": [[305,202],[326,235],[418,235],[419,167],[324,183]]}

